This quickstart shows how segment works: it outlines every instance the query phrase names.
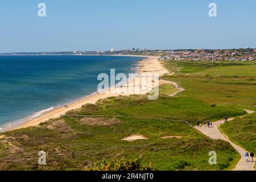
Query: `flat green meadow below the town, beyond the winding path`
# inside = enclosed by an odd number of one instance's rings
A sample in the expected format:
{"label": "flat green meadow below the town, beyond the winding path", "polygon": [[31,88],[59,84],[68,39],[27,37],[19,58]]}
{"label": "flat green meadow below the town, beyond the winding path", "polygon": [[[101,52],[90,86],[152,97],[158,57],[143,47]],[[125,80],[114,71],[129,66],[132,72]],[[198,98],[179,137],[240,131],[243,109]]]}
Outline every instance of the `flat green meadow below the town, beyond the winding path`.
{"label": "flat green meadow below the town, beyond the winding path", "polygon": [[255,61],[168,61],[166,66],[175,68],[176,74],[163,78],[182,85],[186,89],[183,96],[256,110]]}

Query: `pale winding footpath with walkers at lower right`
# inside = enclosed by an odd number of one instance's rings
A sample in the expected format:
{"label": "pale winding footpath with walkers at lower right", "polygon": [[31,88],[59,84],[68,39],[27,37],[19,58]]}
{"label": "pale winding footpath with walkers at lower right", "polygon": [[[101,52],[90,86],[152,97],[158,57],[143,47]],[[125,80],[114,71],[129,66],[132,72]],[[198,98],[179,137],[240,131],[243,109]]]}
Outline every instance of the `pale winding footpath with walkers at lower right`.
{"label": "pale winding footpath with walkers at lower right", "polygon": [[[254,113],[254,111],[251,111],[251,110],[245,110],[245,111],[248,114]],[[240,118],[242,118],[242,117],[240,117]],[[236,118],[230,118],[230,119],[228,119],[228,121],[233,121],[234,119],[236,119]],[[222,140],[229,142],[240,153],[242,158],[237,163],[237,166],[236,166],[236,168],[234,168],[234,171],[255,171],[255,169],[254,169],[255,162],[251,163],[251,162],[246,162],[246,160],[245,160],[246,150],[243,149],[242,147],[238,146],[237,144],[234,144],[233,142],[231,142],[225,134],[221,133],[219,127],[223,123],[225,123],[225,120],[213,122],[212,127],[205,127],[205,126],[197,127],[196,126],[195,128],[197,130],[201,131],[201,133],[207,135],[208,137],[210,137],[212,139],[222,139]]]}

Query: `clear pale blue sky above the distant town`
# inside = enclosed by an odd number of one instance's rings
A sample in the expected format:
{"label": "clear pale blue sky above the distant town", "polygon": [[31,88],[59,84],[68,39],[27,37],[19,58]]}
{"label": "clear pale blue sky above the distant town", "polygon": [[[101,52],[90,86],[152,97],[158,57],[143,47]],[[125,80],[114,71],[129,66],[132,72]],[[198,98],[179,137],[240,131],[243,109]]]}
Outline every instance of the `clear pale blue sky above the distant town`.
{"label": "clear pale blue sky above the distant town", "polygon": [[8,0],[0,23],[0,52],[256,48],[255,0]]}

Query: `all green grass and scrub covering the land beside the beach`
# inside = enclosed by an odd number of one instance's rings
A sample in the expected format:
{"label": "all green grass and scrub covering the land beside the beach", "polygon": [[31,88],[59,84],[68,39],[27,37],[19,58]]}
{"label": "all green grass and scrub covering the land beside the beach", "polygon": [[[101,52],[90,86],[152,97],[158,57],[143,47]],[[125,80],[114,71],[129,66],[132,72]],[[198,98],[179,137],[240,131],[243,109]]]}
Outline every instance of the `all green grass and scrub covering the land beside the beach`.
{"label": "all green grass and scrub covering the land beside the beach", "polygon": [[[155,101],[147,96],[110,97],[39,126],[2,133],[0,158],[10,157],[11,162],[0,159],[0,169],[232,169],[240,160],[238,152],[228,142],[209,139],[188,123],[215,121],[225,115],[237,117],[246,114],[242,109],[255,110],[255,65],[167,61],[166,67],[175,75],[163,78],[186,89],[178,96],[170,97],[176,89],[164,84]],[[221,129],[234,142],[255,150],[255,114],[226,122]],[[122,140],[130,135],[147,139]],[[36,163],[40,150],[47,152],[46,166]],[[215,166],[208,163],[209,151],[218,154]],[[13,158],[24,156],[30,157]]]}

